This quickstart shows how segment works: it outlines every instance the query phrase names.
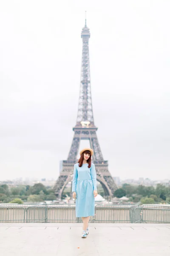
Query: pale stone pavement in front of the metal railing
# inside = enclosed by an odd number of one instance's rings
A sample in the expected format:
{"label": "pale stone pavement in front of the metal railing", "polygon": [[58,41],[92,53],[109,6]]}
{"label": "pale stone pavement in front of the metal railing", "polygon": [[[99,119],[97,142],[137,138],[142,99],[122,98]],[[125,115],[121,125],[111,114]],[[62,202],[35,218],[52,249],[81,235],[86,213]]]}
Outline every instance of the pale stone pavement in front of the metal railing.
{"label": "pale stone pavement in front of the metal railing", "polygon": [[170,256],[170,224],[0,224],[0,256]]}

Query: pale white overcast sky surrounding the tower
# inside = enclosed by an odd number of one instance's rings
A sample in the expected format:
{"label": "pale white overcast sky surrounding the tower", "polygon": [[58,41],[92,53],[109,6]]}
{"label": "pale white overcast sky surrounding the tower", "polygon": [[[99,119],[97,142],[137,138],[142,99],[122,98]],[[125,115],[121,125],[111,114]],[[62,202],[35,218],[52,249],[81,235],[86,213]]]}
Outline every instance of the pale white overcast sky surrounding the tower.
{"label": "pale white overcast sky surrounding the tower", "polygon": [[58,177],[77,118],[85,10],[111,174],[170,179],[170,1],[0,0],[0,180]]}

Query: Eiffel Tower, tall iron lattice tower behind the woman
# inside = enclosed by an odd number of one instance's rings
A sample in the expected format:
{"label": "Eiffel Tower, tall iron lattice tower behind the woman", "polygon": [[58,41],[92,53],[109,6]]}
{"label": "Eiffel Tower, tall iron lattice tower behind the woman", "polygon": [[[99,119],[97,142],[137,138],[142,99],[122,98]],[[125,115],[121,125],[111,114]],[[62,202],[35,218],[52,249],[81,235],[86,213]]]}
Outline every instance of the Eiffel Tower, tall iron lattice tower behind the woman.
{"label": "Eiffel Tower, tall iron lattice tower behind the woman", "polygon": [[80,140],[89,140],[90,146],[94,151],[92,162],[96,167],[96,177],[101,183],[105,195],[108,198],[113,197],[114,191],[117,189],[113,177],[108,171],[108,161],[105,161],[102,156],[102,151],[99,146],[96,131],[97,127],[94,125],[93,108],[91,101],[91,80],[90,80],[90,65],[89,65],[89,50],[88,41],[90,38],[90,31],[86,25],[82,29],[82,70],[81,82],[79,92],[79,105],[77,113],[77,123],[73,128],[74,138],[71,144],[70,152],[67,160],[62,161],[62,171],[54,186],[55,195],[57,199],[61,199],[62,192],[68,182],[73,179],[74,164],[77,163],[77,154],[79,150]]}

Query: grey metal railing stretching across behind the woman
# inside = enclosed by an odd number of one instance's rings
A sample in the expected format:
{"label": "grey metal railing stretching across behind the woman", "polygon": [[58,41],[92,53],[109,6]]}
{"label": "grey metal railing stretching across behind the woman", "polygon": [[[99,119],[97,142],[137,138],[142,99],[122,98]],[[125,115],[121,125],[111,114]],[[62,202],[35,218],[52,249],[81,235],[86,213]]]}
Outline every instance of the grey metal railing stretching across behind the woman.
{"label": "grey metal railing stretching across behind the woman", "polygon": [[[80,223],[75,204],[1,204],[0,223]],[[166,205],[96,205],[96,223],[170,223]]]}

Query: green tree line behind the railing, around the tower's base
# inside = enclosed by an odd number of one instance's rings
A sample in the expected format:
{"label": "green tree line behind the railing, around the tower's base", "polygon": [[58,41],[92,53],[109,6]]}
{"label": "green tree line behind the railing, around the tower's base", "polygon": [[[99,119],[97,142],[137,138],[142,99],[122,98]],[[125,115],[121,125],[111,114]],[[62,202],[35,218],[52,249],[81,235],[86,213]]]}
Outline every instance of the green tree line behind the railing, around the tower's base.
{"label": "green tree line behind the railing, around the tower's base", "polygon": [[[102,186],[97,188],[98,194],[104,196],[104,190]],[[71,194],[70,188],[65,188],[62,193],[62,198],[65,195]],[[133,186],[130,184],[123,184],[122,187],[114,192],[114,196],[121,198],[126,196],[130,202],[141,204],[156,204],[156,203],[168,203],[170,204],[170,186],[164,186],[157,184],[156,188],[153,186]],[[6,184],[0,185],[0,203],[24,203],[24,202],[43,202],[45,200],[56,200],[54,189],[46,187],[42,183],[29,185],[18,185],[15,187],[9,187]]]}

